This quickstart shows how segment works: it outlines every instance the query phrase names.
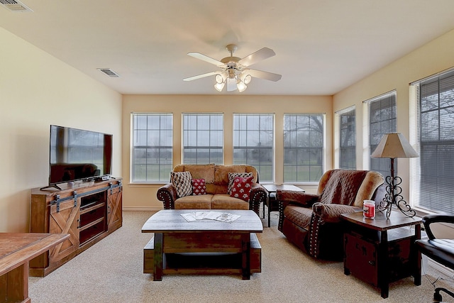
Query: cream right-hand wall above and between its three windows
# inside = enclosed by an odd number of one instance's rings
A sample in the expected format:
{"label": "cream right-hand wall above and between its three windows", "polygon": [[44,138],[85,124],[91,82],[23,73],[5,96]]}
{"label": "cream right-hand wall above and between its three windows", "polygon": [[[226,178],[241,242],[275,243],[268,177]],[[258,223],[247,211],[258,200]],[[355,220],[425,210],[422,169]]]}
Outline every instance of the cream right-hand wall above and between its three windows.
{"label": "cream right-hand wall above and between its three windows", "polygon": [[[409,83],[454,67],[454,31],[445,33],[404,57],[365,77],[360,82],[333,96],[333,110],[338,111],[355,104],[356,106],[356,159],[362,167],[362,101],[385,92],[397,91],[397,132],[409,138]],[[399,159],[397,171],[402,177],[403,196],[411,203],[409,191],[409,160]],[[367,169],[368,167],[364,167]],[[447,229],[452,235],[452,229]],[[444,236],[449,236],[445,234]]]}

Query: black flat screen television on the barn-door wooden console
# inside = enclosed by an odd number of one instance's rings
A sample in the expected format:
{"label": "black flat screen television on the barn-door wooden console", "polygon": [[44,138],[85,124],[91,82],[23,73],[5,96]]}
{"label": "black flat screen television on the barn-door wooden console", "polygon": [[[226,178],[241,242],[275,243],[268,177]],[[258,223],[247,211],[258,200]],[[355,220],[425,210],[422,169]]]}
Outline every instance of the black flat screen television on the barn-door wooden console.
{"label": "black flat screen television on the barn-door wooden console", "polygon": [[[112,173],[112,135],[50,126],[49,186],[96,180]],[[46,188],[46,187],[43,187]]]}

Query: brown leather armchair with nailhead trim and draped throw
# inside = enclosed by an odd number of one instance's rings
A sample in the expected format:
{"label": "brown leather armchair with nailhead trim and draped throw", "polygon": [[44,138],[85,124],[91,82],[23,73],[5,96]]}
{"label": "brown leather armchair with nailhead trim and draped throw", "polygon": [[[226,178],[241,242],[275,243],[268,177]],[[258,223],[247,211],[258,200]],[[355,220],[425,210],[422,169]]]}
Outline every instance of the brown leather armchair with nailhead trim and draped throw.
{"label": "brown leather armchair with nailhead trim and draped throw", "polygon": [[384,179],[367,170],[328,170],[316,194],[277,190],[278,229],[314,258],[343,259],[341,214],[362,211],[363,200],[384,198]]}

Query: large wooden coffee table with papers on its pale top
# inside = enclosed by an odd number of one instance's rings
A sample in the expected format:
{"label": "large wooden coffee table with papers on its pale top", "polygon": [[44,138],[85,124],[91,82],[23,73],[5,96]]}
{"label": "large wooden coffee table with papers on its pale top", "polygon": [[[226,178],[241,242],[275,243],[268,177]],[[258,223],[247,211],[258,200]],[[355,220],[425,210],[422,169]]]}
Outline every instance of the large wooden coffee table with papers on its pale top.
{"label": "large wooden coffee table with papers on its pale top", "polygon": [[213,209],[240,215],[226,223],[215,220],[188,222],[181,214],[201,209],[165,209],[143,224],[143,233],[155,233],[145,246],[143,272],[162,274],[241,274],[249,280],[261,272],[261,248],[255,233],[263,231],[262,221],[251,210]]}

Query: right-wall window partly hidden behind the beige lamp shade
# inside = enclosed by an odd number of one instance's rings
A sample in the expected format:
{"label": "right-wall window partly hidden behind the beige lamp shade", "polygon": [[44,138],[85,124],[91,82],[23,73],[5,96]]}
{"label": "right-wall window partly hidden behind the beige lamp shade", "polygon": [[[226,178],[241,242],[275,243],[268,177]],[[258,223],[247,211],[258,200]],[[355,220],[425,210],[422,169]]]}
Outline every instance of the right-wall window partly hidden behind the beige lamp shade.
{"label": "right-wall window partly hidden behind the beige lamp shade", "polygon": [[[370,158],[370,155],[377,148],[384,134],[396,132],[396,92],[367,100],[365,104],[369,115],[369,153],[367,154],[367,160],[370,160],[369,167],[370,170],[380,172],[383,177],[387,177],[391,174],[391,160]],[[397,160],[394,161],[394,167],[397,167]]]}

